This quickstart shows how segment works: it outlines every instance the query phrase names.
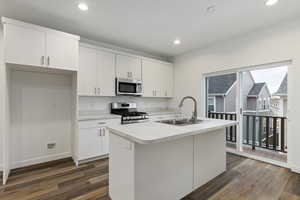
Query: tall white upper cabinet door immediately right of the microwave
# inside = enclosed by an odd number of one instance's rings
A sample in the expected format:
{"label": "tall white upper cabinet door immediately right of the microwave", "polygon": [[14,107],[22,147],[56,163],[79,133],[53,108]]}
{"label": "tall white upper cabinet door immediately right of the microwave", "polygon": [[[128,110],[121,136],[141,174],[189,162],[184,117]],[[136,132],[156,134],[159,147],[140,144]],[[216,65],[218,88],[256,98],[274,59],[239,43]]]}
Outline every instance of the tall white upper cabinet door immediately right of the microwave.
{"label": "tall white upper cabinet door immediately right of the microwave", "polygon": [[157,77],[157,65],[155,62],[148,60],[142,61],[142,78],[143,78],[143,89],[144,97],[154,97]]}

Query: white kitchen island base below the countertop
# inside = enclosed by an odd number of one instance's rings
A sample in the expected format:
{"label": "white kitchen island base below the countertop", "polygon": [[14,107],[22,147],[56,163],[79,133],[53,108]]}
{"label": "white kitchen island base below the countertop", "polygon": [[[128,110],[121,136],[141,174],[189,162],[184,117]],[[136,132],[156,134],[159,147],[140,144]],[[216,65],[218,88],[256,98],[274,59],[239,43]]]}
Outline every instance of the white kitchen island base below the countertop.
{"label": "white kitchen island base below the countertop", "polygon": [[110,129],[112,200],[179,200],[226,170],[225,128],[140,144]]}

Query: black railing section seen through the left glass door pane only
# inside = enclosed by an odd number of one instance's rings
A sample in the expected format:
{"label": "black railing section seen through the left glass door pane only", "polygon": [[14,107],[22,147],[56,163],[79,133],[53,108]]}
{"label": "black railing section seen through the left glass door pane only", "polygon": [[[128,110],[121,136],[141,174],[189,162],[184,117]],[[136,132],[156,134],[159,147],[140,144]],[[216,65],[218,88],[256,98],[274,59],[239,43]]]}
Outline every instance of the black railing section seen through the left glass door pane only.
{"label": "black railing section seen through the left glass door pane only", "polygon": [[[208,118],[237,120],[236,113],[209,112]],[[236,142],[236,131],[237,131],[236,125],[226,128],[226,141]]]}

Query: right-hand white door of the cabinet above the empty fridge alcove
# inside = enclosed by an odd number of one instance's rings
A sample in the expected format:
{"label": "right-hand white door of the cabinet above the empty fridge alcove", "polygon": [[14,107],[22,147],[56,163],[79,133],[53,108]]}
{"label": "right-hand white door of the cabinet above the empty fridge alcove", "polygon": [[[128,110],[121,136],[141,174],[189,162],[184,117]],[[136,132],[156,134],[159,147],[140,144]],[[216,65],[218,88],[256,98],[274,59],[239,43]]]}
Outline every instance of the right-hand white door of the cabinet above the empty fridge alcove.
{"label": "right-hand white door of the cabinet above the empty fridge alcove", "polygon": [[47,32],[47,65],[64,70],[78,70],[79,42],[75,38]]}

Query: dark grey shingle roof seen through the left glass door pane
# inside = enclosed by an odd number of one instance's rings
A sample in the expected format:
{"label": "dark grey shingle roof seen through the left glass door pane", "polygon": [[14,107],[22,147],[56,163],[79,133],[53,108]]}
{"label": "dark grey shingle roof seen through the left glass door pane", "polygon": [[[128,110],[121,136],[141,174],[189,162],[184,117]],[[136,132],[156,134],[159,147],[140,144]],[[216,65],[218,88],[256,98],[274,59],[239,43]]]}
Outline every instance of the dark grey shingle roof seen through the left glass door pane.
{"label": "dark grey shingle roof seen through the left glass door pane", "polygon": [[225,74],[208,78],[208,94],[226,94],[236,81],[236,74]]}

